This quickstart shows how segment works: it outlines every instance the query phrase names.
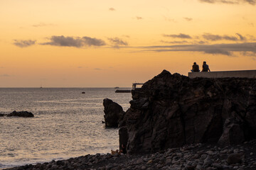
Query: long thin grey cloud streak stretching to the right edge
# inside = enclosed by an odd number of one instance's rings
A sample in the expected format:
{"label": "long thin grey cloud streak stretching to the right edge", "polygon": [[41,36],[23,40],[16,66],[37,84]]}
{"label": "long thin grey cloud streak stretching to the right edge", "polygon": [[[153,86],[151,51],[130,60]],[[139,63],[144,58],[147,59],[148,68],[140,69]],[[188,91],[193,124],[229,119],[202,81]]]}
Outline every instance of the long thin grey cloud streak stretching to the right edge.
{"label": "long thin grey cloud streak stretching to the right edge", "polygon": [[232,55],[232,52],[256,53],[256,42],[214,45],[160,45],[139,47],[154,52],[204,52],[212,55]]}

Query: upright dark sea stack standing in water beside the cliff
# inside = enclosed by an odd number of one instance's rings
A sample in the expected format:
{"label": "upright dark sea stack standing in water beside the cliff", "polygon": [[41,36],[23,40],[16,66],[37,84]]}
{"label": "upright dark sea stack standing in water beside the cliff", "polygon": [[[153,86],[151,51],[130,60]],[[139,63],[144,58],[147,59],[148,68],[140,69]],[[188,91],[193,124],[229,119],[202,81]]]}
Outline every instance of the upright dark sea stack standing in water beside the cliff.
{"label": "upright dark sea stack standing in water beside the cliff", "polygon": [[122,106],[119,106],[119,104],[113,102],[109,98],[103,100],[103,106],[106,127],[117,128],[119,123],[122,122],[125,113]]}

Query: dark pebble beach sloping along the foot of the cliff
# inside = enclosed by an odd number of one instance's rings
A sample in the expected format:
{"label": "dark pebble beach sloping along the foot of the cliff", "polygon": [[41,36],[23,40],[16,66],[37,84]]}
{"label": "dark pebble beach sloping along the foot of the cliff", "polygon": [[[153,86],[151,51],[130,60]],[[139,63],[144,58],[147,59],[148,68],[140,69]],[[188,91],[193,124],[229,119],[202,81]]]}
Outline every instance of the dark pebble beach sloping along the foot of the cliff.
{"label": "dark pebble beach sloping along the foot of the cliff", "polygon": [[163,152],[140,155],[87,154],[67,160],[53,160],[43,164],[26,165],[9,170],[218,170],[218,169],[256,169],[256,141],[242,145],[196,144],[166,149]]}

